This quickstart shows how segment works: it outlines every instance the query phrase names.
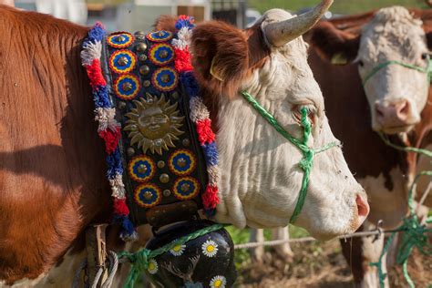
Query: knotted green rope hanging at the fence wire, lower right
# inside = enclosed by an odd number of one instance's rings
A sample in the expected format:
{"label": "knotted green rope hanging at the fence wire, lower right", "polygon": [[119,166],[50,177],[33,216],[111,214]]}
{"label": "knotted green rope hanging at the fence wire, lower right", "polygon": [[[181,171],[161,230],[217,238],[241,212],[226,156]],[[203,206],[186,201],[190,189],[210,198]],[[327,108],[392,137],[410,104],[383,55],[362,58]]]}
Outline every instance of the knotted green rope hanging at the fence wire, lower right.
{"label": "knotted green rope hanging at the fence wire, lower right", "polygon": [[[432,157],[432,152],[426,149],[417,149],[413,147],[400,147],[391,143],[383,134],[379,133],[379,136],[381,137],[381,139],[384,140],[386,145],[394,149],[398,149],[406,152],[414,152],[414,153],[426,155],[427,157]],[[399,226],[386,241],[386,245],[384,246],[383,252],[379,257],[378,262],[369,263],[370,266],[375,266],[377,268],[379,284],[381,287],[385,286],[385,279],[387,276],[386,273],[383,273],[382,270],[383,257],[388,252],[390,244],[391,242],[393,242],[396,233],[398,231],[404,231],[404,234],[402,235],[400,249],[396,255],[396,262],[398,265],[402,265],[402,271],[404,273],[406,283],[408,283],[410,288],[416,287],[411,277],[409,276],[407,270],[408,258],[411,255],[411,252],[413,251],[414,247],[417,247],[418,251],[423,253],[424,255],[427,256],[432,255],[432,245],[427,242],[428,241],[427,233],[432,232],[432,229],[427,229],[426,225],[422,225],[420,221],[418,221],[416,215],[416,209],[414,207],[414,189],[416,187],[417,181],[420,179],[420,177],[423,176],[431,177],[432,171],[428,171],[428,170],[421,171],[417,174],[416,178],[414,179],[408,191],[409,215],[404,219],[402,225]],[[432,223],[432,217],[427,218],[426,222]]]}

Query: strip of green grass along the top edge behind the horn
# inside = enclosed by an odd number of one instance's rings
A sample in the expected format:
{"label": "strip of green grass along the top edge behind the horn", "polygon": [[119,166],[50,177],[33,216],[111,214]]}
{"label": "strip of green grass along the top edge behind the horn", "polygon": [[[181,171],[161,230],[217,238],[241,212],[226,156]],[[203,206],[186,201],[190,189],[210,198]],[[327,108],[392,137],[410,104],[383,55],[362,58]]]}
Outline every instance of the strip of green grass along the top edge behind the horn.
{"label": "strip of green grass along the top edge behind the horn", "polygon": [[[271,8],[297,11],[304,7],[316,5],[317,3],[319,3],[318,0],[248,0],[248,6],[260,12],[265,12]],[[424,0],[334,0],[334,4],[330,10],[337,14],[353,14],[390,5],[427,7]]]}

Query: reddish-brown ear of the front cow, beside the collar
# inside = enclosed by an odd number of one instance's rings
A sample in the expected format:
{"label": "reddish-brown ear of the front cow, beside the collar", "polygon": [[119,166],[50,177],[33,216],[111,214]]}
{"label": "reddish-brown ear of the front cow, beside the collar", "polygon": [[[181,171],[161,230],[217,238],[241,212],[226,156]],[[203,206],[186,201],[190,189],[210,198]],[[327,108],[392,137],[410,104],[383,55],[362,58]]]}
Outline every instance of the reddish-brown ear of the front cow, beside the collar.
{"label": "reddish-brown ear of the front cow, beside the collar", "polygon": [[234,97],[249,70],[245,33],[224,22],[206,22],[194,28],[190,50],[201,89],[213,96]]}

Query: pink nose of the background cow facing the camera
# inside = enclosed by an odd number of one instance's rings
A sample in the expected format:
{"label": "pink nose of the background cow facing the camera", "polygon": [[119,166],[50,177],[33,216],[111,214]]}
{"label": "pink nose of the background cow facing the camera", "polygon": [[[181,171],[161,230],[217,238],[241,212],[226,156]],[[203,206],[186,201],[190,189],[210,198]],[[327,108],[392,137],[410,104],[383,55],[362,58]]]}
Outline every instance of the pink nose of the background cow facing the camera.
{"label": "pink nose of the background cow facing the camera", "polygon": [[383,127],[405,126],[411,112],[408,101],[400,100],[387,105],[375,104],[376,120]]}

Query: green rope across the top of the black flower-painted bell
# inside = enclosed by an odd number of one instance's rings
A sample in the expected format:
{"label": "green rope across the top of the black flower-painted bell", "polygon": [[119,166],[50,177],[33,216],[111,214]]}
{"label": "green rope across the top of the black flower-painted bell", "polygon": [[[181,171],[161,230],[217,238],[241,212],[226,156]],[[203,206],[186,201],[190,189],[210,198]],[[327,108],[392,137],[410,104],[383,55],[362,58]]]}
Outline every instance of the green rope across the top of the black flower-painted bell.
{"label": "green rope across the top of the black flower-painted bell", "polygon": [[159,247],[155,250],[142,249],[139,252],[129,253],[129,252],[118,252],[118,258],[128,258],[131,268],[126,278],[125,288],[133,288],[140,273],[144,273],[147,269],[149,269],[149,261],[165,252],[169,252],[172,248],[177,245],[183,245],[186,242],[190,242],[190,240],[201,237],[207,233],[212,231],[221,230],[223,227],[227,225],[224,224],[213,224],[209,227],[205,227],[199,231],[194,231],[186,236],[180,237],[178,240],[174,242],[170,242],[162,247]]}

